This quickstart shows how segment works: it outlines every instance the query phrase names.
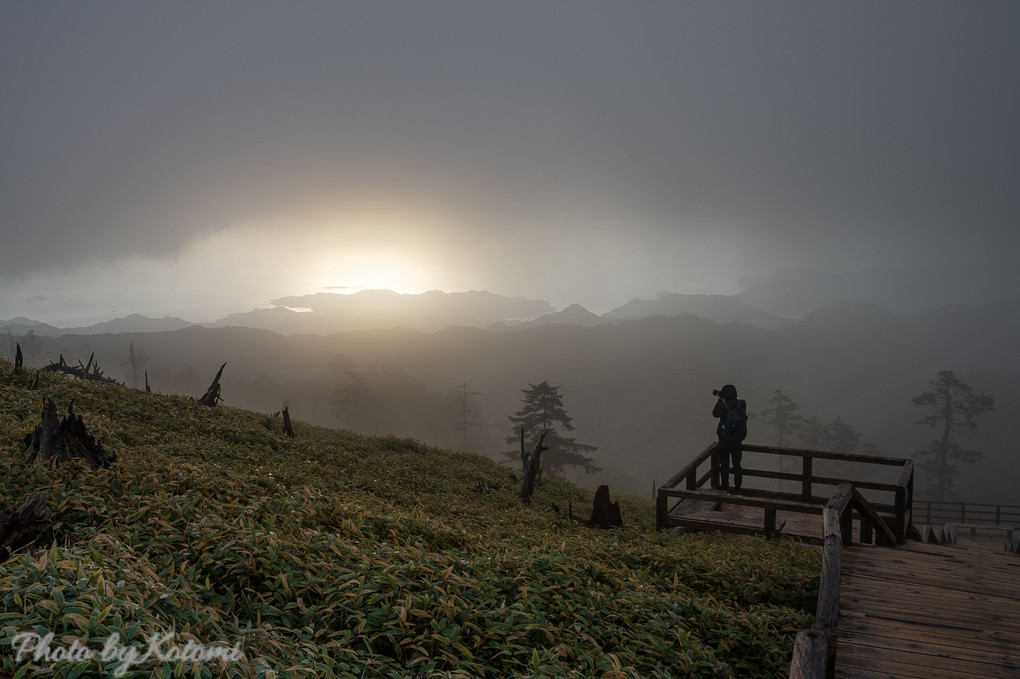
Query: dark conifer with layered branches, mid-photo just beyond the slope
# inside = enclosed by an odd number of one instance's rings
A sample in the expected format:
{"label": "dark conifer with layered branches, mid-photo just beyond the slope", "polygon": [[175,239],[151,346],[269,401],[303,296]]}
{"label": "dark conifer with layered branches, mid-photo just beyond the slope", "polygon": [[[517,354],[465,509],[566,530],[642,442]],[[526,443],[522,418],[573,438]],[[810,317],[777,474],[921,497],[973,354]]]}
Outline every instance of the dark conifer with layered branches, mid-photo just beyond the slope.
{"label": "dark conifer with layered branches, mid-photo just beyond the slope", "polygon": [[[526,438],[533,447],[543,432],[548,431],[544,441],[548,449],[544,460],[550,473],[562,471],[564,467],[581,467],[586,473],[600,471],[592,464],[590,457],[598,447],[578,443],[574,438],[561,433],[573,431],[574,427],[573,418],[563,408],[560,387],[544,381],[541,384],[528,384],[528,388],[521,391],[524,394],[524,404],[520,410],[509,416],[514,426],[514,433],[506,437],[506,442],[516,442],[520,435],[518,432],[523,428]],[[507,457],[512,459],[517,455],[516,452],[512,452],[508,453]],[[523,471],[526,472],[527,463],[526,461],[522,463]]]}

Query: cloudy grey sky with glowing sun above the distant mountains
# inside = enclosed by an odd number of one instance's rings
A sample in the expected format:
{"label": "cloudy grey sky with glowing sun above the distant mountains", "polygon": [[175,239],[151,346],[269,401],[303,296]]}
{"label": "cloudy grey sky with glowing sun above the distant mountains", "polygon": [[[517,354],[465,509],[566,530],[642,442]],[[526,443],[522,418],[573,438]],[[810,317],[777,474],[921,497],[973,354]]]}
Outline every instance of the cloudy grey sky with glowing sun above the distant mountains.
{"label": "cloudy grey sky with glowing sun above the distant mountains", "polygon": [[1020,294],[1017,36],[1012,0],[5,2],[0,319],[601,313],[786,268]]}

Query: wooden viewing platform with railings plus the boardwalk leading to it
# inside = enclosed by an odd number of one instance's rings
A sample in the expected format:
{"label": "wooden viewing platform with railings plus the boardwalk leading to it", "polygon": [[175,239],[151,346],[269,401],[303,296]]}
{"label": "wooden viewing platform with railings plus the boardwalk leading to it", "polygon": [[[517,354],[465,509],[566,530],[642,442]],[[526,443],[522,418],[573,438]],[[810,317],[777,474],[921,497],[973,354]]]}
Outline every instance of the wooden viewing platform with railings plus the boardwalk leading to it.
{"label": "wooden viewing platform with railings plus the boardwalk leading to it", "polygon": [[[712,445],[658,488],[656,523],[822,544],[815,626],[797,635],[790,679],[1020,677],[1020,540],[998,522],[1003,508],[993,525],[970,526],[1002,533],[1003,551],[924,543],[922,536],[955,537],[956,530],[915,528],[912,461],[744,450],[744,476],[752,480],[744,495],[719,490]],[[836,467],[821,472],[819,463]],[[821,486],[835,491],[826,498]],[[927,508],[923,518],[930,514]]]}

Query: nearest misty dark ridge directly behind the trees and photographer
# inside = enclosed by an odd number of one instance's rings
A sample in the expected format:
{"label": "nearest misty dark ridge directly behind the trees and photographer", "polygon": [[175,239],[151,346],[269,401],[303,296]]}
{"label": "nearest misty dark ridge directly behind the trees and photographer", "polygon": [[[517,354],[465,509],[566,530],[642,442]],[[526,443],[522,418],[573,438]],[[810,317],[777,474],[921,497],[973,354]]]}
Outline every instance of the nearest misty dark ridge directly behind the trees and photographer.
{"label": "nearest misty dark ridge directly behind the trees and photographer", "polygon": [[[668,478],[711,441],[711,389],[722,383],[737,385],[754,417],[781,388],[806,416],[823,423],[838,416],[883,453],[910,457],[932,435],[916,424],[923,411],[912,399],[939,370],[954,370],[997,401],[994,415],[981,418],[977,433],[964,441],[988,460],[964,469],[961,486],[972,500],[1008,502],[1015,494],[1011,478],[1020,473],[1011,453],[1012,414],[1020,412],[1020,300],[884,317],[867,305],[845,308],[857,313],[846,314],[853,322],[843,329],[834,327],[844,320],[835,307],[812,317],[826,329],[806,323],[769,329],[683,313],[501,332],[448,326],[284,336],[188,327],[63,335],[43,337],[34,364],[59,353],[84,362],[94,351],[106,374],[123,379],[134,342],[147,357],[141,367],[154,389],[199,397],[227,361],[227,404],[271,412],[287,400],[295,417],[323,424],[342,421],[338,390],[357,373],[385,406],[381,424],[367,431],[450,447],[466,445],[454,427],[463,402],[451,397],[466,384],[482,395],[474,400],[475,445],[497,457],[511,448],[503,443],[512,433],[507,415],[520,407],[521,389],[549,380],[562,386],[577,439],[598,446],[597,463],[611,470],[579,480],[643,493],[652,479]],[[593,320],[581,309],[569,314]],[[758,422],[752,420],[749,438],[769,442],[773,432]]]}

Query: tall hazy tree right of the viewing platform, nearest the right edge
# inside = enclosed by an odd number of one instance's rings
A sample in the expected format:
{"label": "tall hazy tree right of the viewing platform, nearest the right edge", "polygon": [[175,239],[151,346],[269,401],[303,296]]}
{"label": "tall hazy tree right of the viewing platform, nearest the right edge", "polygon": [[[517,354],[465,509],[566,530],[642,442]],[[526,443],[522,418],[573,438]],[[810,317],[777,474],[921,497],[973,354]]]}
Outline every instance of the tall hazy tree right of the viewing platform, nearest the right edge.
{"label": "tall hazy tree right of the viewing platform, nearest the right edge", "polygon": [[964,450],[957,442],[957,436],[966,436],[977,430],[974,418],[994,410],[994,399],[986,394],[975,394],[973,387],[963,382],[952,370],[941,370],[928,381],[931,391],[914,397],[915,406],[928,409],[928,414],[917,421],[932,429],[941,429],[941,436],[931,441],[925,449],[915,454],[920,465],[929,471],[929,484],[935,499],[945,501],[953,493],[960,474],[960,464],[972,465],[984,454],[979,451]]}

